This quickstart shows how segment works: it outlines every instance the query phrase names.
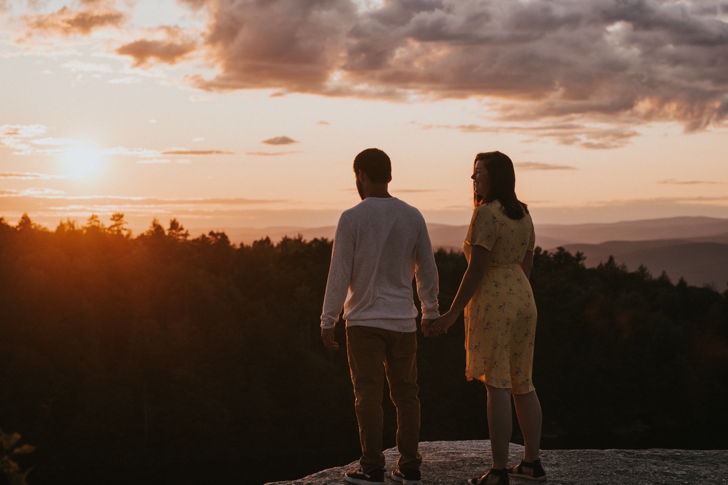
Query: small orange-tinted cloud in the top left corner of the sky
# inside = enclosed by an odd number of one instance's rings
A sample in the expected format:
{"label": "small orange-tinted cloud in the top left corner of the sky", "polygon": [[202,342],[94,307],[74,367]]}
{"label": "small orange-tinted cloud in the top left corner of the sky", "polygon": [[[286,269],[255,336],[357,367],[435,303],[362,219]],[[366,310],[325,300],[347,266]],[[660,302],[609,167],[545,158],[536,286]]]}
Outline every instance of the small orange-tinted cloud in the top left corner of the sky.
{"label": "small orange-tinted cloud in the top left corner of the sky", "polygon": [[[84,1],[91,8],[74,10],[63,7],[50,14],[24,15],[26,35],[82,35],[87,36],[99,28],[121,28],[127,20],[124,12],[105,6],[105,1]],[[95,9],[94,7],[97,7]]]}

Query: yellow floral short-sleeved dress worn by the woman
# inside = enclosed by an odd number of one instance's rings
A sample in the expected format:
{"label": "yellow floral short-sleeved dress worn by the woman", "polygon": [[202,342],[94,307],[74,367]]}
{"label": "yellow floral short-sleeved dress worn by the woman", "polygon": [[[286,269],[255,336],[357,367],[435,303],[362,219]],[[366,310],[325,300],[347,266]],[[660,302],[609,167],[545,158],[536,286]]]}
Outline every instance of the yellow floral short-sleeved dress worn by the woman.
{"label": "yellow floral short-sleeved dress worn by the woman", "polygon": [[534,390],[536,303],[521,262],[534,249],[531,216],[510,219],[499,201],[478,206],[472,214],[463,252],[470,246],[490,251],[488,270],[465,308],[465,375],[494,388],[526,394]]}

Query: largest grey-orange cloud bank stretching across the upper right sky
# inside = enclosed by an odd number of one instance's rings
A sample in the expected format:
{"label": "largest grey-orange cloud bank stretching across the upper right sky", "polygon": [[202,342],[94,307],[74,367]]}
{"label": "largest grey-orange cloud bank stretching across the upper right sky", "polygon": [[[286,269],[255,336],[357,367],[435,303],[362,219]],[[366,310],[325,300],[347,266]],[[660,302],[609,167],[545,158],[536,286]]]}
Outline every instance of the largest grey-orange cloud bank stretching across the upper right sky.
{"label": "largest grey-orange cloud bank stretching across the upper right sky", "polygon": [[209,14],[218,73],[194,77],[202,89],[488,97],[511,121],[587,114],[687,131],[728,116],[728,23],[712,2],[183,2]]}

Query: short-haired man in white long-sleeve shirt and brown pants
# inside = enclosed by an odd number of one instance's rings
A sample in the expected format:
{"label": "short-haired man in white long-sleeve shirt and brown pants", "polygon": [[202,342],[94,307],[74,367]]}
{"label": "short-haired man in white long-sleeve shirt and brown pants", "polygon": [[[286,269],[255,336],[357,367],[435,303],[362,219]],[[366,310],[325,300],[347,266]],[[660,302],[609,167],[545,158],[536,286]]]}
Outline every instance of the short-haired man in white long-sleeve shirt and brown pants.
{"label": "short-haired man in white long-sleeve shirt and brown pants", "polygon": [[[392,163],[368,148],[354,159],[362,201],[344,211],[336,226],[321,315],[321,338],[337,350],[333,329],[344,308],[347,353],[354,384],[362,456],[359,469],[344,474],[352,484],[384,483],[381,400],[383,374],[397,408],[400,458],[392,478],[419,485],[422,456],[417,393],[417,308],[412,277],[422,301],[422,327],[438,318],[438,270],[422,215],[389,195]],[[384,372],[382,371],[384,366]]]}

